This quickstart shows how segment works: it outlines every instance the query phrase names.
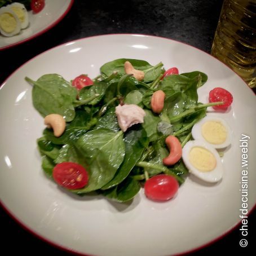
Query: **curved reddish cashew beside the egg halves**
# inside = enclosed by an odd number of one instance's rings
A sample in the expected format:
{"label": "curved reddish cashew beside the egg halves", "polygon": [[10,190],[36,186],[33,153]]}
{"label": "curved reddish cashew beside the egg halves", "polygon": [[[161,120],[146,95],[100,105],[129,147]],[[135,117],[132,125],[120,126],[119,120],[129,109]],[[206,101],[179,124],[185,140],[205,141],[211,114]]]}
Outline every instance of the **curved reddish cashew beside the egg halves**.
{"label": "curved reddish cashew beside the egg halves", "polygon": [[169,148],[170,154],[165,157],[162,162],[164,165],[174,165],[182,157],[182,145],[179,142],[179,139],[173,135],[167,136],[165,143]]}

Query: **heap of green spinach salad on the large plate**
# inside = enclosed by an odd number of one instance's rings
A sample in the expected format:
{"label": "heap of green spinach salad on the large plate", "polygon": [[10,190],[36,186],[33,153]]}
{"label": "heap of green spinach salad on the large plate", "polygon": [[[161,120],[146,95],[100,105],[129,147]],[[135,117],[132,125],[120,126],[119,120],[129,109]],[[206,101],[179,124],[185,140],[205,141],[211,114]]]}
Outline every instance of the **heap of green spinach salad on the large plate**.
{"label": "heap of green spinach salad on the large plate", "polygon": [[[127,74],[127,61],[142,71],[142,79]],[[183,147],[206,108],[219,104],[198,102],[197,89],[207,79],[199,71],[169,74],[162,63],[152,66],[135,59],[105,63],[93,80],[87,75],[70,82],[59,74],[45,74],[37,81],[26,77],[33,85],[34,108],[42,117],[57,114],[65,123],[61,134],[46,127],[37,140],[42,169],[69,192],[86,195],[95,191],[118,202],[134,198],[154,176],[171,177],[179,187],[188,170],[182,158],[175,164],[163,163],[171,151],[166,138],[174,136]],[[156,113],[152,97],[160,90],[164,101]],[[121,130],[117,107],[127,105],[143,111],[143,121],[131,121]]]}

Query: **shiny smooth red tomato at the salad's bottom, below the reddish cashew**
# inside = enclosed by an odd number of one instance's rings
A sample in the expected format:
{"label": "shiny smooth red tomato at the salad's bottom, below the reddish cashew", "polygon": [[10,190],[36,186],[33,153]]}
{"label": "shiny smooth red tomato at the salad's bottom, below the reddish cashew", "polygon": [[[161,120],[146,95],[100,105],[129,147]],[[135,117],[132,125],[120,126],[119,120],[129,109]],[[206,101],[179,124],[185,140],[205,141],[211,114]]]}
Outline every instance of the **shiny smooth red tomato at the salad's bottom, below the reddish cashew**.
{"label": "shiny smooth red tomato at the salad's bottom, below the reddish cashew", "polygon": [[160,174],[149,178],[145,182],[145,195],[155,201],[167,201],[178,191],[179,183],[170,175]]}

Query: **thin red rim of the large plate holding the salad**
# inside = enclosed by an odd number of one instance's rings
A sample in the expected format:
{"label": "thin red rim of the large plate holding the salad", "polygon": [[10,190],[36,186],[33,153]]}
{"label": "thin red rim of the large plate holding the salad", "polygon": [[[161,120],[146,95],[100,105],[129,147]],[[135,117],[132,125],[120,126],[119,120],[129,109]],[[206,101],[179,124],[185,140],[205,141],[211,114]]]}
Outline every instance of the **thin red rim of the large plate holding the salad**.
{"label": "thin red rim of the large plate holding the salad", "polygon": [[[73,2],[73,0],[72,0]],[[165,37],[158,37],[158,36],[151,36],[151,35],[148,35],[148,34],[125,34],[125,33],[120,33],[120,34],[103,34],[103,35],[99,35],[99,36],[91,36],[91,37],[85,37],[85,38],[80,38],[80,39],[77,39],[77,40],[74,40],[74,41],[71,41],[71,42],[77,42],[77,41],[81,41],[81,40],[84,40],[86,38],[93,38],[93,37],[105,37],[105,36],[145,36],[145,37],[157,37],[157,38],[162,38],[162,39],[167,39],[167,40],[170,40],[170,41],[174,41],[174,42],[178,42],[178,43],[182,43],[183,45],[186,45],[186,46],[189,46],[189,47],[192,47],[192,48],[195,48],[196,50],[198,51],[201,51],[201,52],[204,52],[204,54],[208,54],[208,52],[205,52],[205,51],[202,51],[194,46],[191,46],[191,45],[188,45],[187,43],[184,43],[184,42],[179,42],[177,40],[174,40],[174,39],[170,39],[170,38],[165,38]],[[29,63],[30,61],[32,61],[33,59],[37,58],[38,56],[42,55],[42,54],[45,54],[47,51],[51,51],[53,50],[54,48],[57,48],[57,47],[61,47],[61,46],[64,46],[66,45],[67,43],[70,43],[70,42],[65,42],[65,43],[62,43],[61,45],[58,45],[58,46],[55,46],[55,47],[52,47],[44,52],[42,52],[41,54],[38,54],[36,56],[34,56],[32,59],[26,61],[23,65],[21,65],[19,68],[17,68],[14,72],[12,72],[10,74],[10,76],[8,76],[6,78],[6,80],[2,83],[2,85],[0,85],[0,89],[2,86],[5,85],[6,81],[8,80],[8,78],[10,78],[14,73],[16,73],[20,68],[22,68],[25,64]],[[211,56],[211,58],[214,58],[214,59],[217,59],[215,58],[214,56],[208,54],[209,56]],[[218,60],[218,59],[217,59]],[[219,61],[219,60],[218,60]],[[222,63],[221,61],[219,61],[220,63]],[[228,67],[227,64],[225,63],[222,63],[224,65],[226,65],[226,67]],[[228,67],[229,68],[229,67]],[[231,68],[229,68],[230,70],[232,70]],[[232,70],[233,73],[236,74],[237,77],[239,77],[241,80],[242,78]],[[246,86],[249,87],[249,85],[244,81],[242,80],[242,82],[245,83]],[[250,88],[250,87],[249,87]],[[250,88],[251,89],[251,88]],[[253,90],[251,89],[251,92],[254,94]],[[85,254],[85,253],[81,253],[79,251],[76,251],[76,250],[73,250],[73,249],[70,249],[70,248],[67,248],[63,245],[59,245],[55,242],[52,242],[51,240],[48,240],[46,237],[43,237],[42,235],[39,235],[36,231],[34,231],[33,229],[30,229],[28,226],[26,226],[26,224],[24,224],[23,222],[21,222],[21,220],[17,219],[15,217],[15,214],[11,213],[10,210],[8,210],[8,208],[3,204],[3,202],[1,201],[0,199],[0,206],[2,206],[2,208],[6,211],[6,213],[12,218],[14,219],[21,227],[23,227],[26,231],[28,231],[29,233],[31,233],[32,235],[36,236],[38,239],[42,240],[42,241],[45,241],[47,244],[50,244],[51,246],[55,247],[55,248],[58,248],[60,250],[64,250],[64,251],[67,251],[68,253],[72,253],[72,254],[76,254],[76,255],[83,255],[83,256],[93,256],[92,254]],[[248,214],[246,214],[246,216],[249,216],[254,210],[256,209],[256,203],[254,204],[254,206],[250,209],[250,211],[248,212]],[[190,249],[190,250],[187,250],[187,251],[183,251],[181,253],[178,253],[178,254],[175,254],[175,255],[185,255],[185,254],[190,254],[190,253],[194,253],[195,251],[198,251],[198,250],[201,250],[203,248],[206,248],[212,244],[214,244],[215,242],[223,239],[223,237],[227,236],[229,233],[231,233],[232,231],[234,231],[237,227],[240,226],[241,224],[241,221],[242,220],[239,220],[239,222],[235,223],[235,225],[229,229],[227,229],[226,232],[220,234],[218,237],[215,237],[215,239],[213,240],[210,240],[209,242],[206,242],[205,244],[202,244],[196,248],[193,248],[193,249]]]}

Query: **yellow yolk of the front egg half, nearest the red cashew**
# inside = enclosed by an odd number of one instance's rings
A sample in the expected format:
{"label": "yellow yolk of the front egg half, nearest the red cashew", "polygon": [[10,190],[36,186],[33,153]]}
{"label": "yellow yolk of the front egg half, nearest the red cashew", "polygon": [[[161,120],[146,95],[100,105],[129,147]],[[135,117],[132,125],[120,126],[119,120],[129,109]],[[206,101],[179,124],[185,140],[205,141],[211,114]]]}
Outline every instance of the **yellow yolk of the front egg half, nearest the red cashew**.
{"label": "yellow yolk of the front egg half, nearest the red cashew", "polygon": [[193,147],[191,149],[189,161],[198,171],[202,172],[212,171],[217,165],[213,153],[202,147]]}

